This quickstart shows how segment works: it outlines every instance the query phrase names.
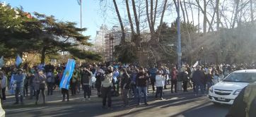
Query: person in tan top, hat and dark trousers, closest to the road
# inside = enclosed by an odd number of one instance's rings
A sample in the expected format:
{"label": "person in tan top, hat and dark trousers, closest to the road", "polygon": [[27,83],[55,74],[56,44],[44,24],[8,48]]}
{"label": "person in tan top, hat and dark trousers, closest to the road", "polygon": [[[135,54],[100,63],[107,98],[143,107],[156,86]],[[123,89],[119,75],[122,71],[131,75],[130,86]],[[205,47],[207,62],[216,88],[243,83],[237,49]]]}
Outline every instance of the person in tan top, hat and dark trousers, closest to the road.
{"label": "person in tan top, hat and dark trousers, closest to the road", "polygon": [[112,80],[113,80],[113,67],[109,66],[107,67],[107,70],[105,71],[105,76],[101,80],[101,93],[103,97],[103,109],[106,106],[106,101],[107,101],[107,106],[109,109],[112,107],[112,100],[111,100],[111,89],[113,87]]}

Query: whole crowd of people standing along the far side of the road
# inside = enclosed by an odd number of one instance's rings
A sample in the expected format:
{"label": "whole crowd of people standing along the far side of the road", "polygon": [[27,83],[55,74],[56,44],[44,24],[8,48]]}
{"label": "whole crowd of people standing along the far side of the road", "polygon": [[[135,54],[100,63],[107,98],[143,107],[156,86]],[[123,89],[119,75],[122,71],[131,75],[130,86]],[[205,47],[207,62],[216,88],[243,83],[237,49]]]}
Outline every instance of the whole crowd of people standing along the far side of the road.
{"label": "whole crowd of people standing along the far side of the road", "polygon": [[[183,92],[188,92],[188,87],[192,87],[194,93],[207,93],[211,85],[223,80],[233,70],[255,68],[255,64],[241,64],[219,66],[210,64],[205,66],[182,65],[180,72],[173,65],[152,64],[147,67],[133,64],[123,65],[120,63],[98,63],[76,65],[72,78],[69,82],[71,96],[83,90],[83,101],[91,100],[92,87],[97,88],[98,97],[103,99],[103,108],[112,107],[112,96],[118,96],[121,91],[124,106],[129,106],[129,96],[137,105],[147,103],[149,87],[152,87],[156,99],[163,99],[163,90],[170,85],[171,93],[178,92],[178,82],[182,82]],[[6,100],[6,90],[16,97],[15,104],[23,104],[24,97],[33,99],[38,103],[40,93],[43,104],[45,104],[45,90],[47,95],[54,94],[54,90],[59,88],[59,83],[64,74],[65,65],[53,66],[51,64],[30,66],[28,68],[2,68],[0,71],[1,100]],[[8,87],[8,88],[7,88]],[[69,90],[62,90],[62,101],[69,101]],[[155,92],[156,91],[156,92]],[[143,94],[143,98],[142,98]]]}

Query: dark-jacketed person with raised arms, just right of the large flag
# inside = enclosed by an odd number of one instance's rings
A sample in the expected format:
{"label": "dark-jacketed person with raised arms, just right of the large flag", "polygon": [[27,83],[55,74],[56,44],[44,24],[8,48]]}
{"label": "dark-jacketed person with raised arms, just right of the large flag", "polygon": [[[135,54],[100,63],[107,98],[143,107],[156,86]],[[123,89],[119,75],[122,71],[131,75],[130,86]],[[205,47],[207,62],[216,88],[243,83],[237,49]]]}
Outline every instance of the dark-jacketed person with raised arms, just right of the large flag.
{"label": "dark-jacketed person with raised arms, just right of the large flag", "polygon": [[83,68],[83,71],[81,73],[81,85],[83,86],[83,101],[86,101],[86,94],[88,96],[88,100],[91,100],[91,77],[93,73],[89,69],[89,66],[86,66],[86,68]]}

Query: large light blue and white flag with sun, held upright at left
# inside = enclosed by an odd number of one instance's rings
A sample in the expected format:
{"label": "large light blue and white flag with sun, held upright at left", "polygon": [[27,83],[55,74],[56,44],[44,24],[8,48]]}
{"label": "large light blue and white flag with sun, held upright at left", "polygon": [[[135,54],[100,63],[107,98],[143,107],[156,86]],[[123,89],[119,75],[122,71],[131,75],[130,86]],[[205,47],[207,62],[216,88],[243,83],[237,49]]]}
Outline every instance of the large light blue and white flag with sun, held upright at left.
{"label": "large light blue and white flag with sun, held upright at left", "polygon": [[59,84],[59,87],[69,90],[69,82],[74,72],[74,68],[76,66],[76,61],[74,59],[69,59],[68,63],[66,63],[66,69],[62,75],[62,80]]}

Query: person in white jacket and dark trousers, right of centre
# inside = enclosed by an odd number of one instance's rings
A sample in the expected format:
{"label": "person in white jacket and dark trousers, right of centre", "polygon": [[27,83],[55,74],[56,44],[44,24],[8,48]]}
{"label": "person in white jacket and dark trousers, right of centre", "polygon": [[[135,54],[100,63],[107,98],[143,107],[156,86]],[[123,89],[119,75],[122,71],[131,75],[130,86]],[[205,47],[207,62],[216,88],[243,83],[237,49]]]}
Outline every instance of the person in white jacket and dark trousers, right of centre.
{"label": "person in white jacket and dark trousers, right of centre", "polygon": [[156,75],[156,98],[160,94],[160,99],[163,100],[163,86],[165,85],[165,77],[161,75],[161,72],[158,71]]}

